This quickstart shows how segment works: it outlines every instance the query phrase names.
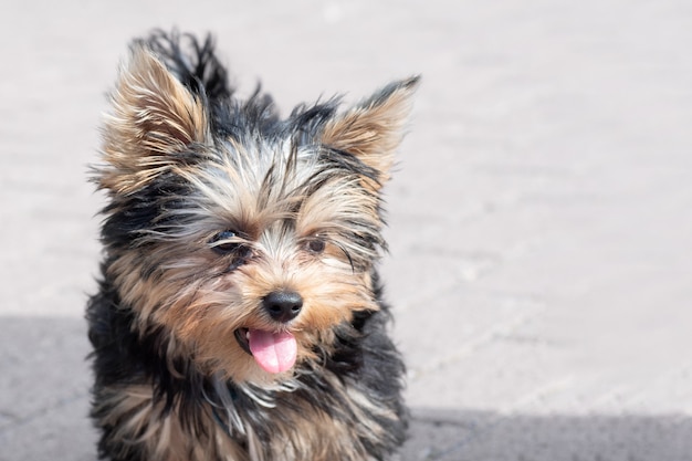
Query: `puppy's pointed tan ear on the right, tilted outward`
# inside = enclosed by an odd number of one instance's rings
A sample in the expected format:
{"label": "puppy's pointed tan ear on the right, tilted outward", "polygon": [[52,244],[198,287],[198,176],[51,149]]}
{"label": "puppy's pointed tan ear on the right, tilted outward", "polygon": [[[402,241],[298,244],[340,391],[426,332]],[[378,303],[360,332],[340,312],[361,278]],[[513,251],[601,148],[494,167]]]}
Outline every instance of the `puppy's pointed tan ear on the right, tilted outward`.
{"label": "puppy's pointed tan ear on the right, tilted outward", "polygon": [[323,144],[356,156],[376,172],[366,181],[374,190],[389,179],[418,82],[418,76],[394,82],[324,126]]}

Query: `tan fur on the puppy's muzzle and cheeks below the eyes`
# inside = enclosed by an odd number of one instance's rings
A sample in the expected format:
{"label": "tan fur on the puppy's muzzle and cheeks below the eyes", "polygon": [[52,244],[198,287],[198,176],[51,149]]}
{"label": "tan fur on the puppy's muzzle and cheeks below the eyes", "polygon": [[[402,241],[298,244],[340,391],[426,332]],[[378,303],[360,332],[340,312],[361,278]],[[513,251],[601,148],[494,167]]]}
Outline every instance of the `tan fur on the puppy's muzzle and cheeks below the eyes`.
{"label": "tan fur on the puppy's muzzle and cheeks below the eyes", "polygon": [[239,327],[275,328],[261,308],[268,293],[289,289],[304,298],[303,312],[291,325],[298,342],[298,360],[313,359],[313,345],[324,343],[329,329],[348,321],[353,310],[378,310],[368,273],[355,274],[339,249],[327,244],[322,255],[312,256],[294,240],[290,242],[291,247],[273,249],[256,244],[256,263],[219,276],[200,273],[220,273],[222,268],[216,268],[219,259],[206,243],[197,252],[190,250],[195,241],[180,243],[178,251],[165,248],[156,281],[141,279],[132,270],[138,264],[136,251],[125,253],[111,269],[123,300],[137,308],[143,333],[151,325],[165,325],[182,342],[180,352],[192,353],[210,374],[221,373],[240,383],[266,383],[281,376],[261,370],[239,347],[233,332]]}

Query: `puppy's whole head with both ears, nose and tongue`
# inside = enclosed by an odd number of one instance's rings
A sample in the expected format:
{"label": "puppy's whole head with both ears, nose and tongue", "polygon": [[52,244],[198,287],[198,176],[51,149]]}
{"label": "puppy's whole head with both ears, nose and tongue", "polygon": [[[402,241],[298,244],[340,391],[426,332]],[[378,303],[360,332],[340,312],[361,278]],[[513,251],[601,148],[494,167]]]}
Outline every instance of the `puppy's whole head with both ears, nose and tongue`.
{"label": "puppy's whole head with both ears, nose and tongue", "polygon": [[328,353],[354,311],[377,310],[380,187],[415,86],[279,121],[259,97],[210,104],[134,49],[96,181],[108,276],[140,332],[166,328],[174,356],[207,374],[266,383]]}

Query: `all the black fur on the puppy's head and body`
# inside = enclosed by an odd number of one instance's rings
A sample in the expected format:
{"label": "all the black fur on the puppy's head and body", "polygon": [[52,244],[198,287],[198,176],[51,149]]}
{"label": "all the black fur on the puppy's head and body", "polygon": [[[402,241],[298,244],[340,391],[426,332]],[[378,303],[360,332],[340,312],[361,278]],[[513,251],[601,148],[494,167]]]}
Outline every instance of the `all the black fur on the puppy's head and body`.
{"label": "all the black fur on the puppy's head and body", "polygon": [[[227,70],[214,55],[213,41],[209,36],[200,43],[191,35],[157,31],[137,43],[145,43],[160,55],[171,73],[187,88],[205,99],[211,111],[214,136],[232,137],[243,143],[251,136],[312,134],[336,112],[338,101],[333,99],[311,107],[300,107],[289,119],[282,121],[272,98],[262,94],[259,88],[249,101],[237,102],[232,98],[234,91],[228,83]],[[191,149],[190,153],[185,153],[185,161],[195,161],[199,155],[202,154]],[[324,157],[324,165],[327,165],[325,168],[329,170],[357,174],[374,180],[377,178],[376,171],[349,153],[325,148],[319,155]],[[319,184],[313,186],[319,187]],[[375,421],[385,429],[385,433],[376,438],[363,437],[353,443],[365,448],[368,459],[388,459],[402,443],[407,428],[407,410],[401,399],[405,367],[386,334],[390,314],[388,306],[381,301],[381,287],[374,269],[370,269],[374,292],[380,310],[356,311],[350,323],[335,327],[334,348],[329,353],[315,348],[315,353],[322,356],[319,363],[323,368],[317,368],[316,362],[300,365],[303,368],[296,370],[292,390],[266,390],[250,386],[251,394],[271,399],[274,408],[259,404],[232,381],[223,383],[220,391],[216,378],[203,375],[191,359],[168,357],[167,346],[171,333],[164,326],[150,326],[140,331],[133,306],[123,302],[112,277],[114,255],[124,251],[145,250],[147,244],[151,244],[151,238],[145,235],[150,235],[151,231],[166,234],[171,228],[185,226],[185,216],[176,214],[171,210],[185,208],[185,203],[179,200],[186,196],[186,187],[175,175],[162,174],[146,188],[126,198],[118,198],[104,209],[106,219],[101,237],[106,249],[106,261],[102,265],[99,291],[91,297],[86,314],[88,337],[94,347],[91,355],[95,374],[93,418],[96,421],[108,419],[111,408],[104,404],[107,401],[107,391],[118,386],[151,386],[155,389],[153,404],[164,402],[166,412],[176,411],[189,437],[208,436],[206,431],[209,426],[201,423],[201,419],[208,418],[208,415],[200,408],[210,402],[220,409],[213,415],[217,423],[227,430],[228,437],[237,438],[240,446],[250,450],[244,436],[234,433],[232,422],[224,413],[229,406],[233,407],[233,411],[245,425],[252,427],[260,440],[271,440],[280,426],[293,423],[292,420],[282,419],[286,413],[276,409],[300,409],[307,405],[345,425],[361,423],[359,418],[364,415],[368,420]],[[350,223],[352,229],[358,229],[358,226],[355,221]],[[360,226],[365,228],[368,224],[364,222]],[[381,239],[374,238],[368,232],[354,233],[348,238],[368,251],[385,247]],[[361,261],[353,260],[352,265],[354,270],[364,270],[367,266]],[[157,261],[146,261],[143,256],[140,268],[139,276],[150,280],[156,276]],[[357,389],[377,406],[389,409],[395,417],[378,415],[358,404],[356,407],[360,415],[356,415],[353,410],[354,402],[344,400],[347,397],[335,388],[335,383],[325,379],[327,374],[338,377],[339,386]],[[139,444],[119,438],[118,423],[119,421],[99,422],[99,457],[113,461],[146,461],[147,455]],[[212,461],[211,458],[209,460]]]}

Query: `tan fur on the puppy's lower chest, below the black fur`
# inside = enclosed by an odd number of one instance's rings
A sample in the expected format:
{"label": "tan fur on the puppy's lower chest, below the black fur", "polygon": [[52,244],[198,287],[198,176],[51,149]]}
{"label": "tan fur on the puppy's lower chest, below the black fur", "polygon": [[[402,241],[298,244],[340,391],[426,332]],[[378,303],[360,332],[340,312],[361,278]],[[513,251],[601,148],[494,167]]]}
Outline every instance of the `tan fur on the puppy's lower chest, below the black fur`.
{"label": "tan fur on the puppy's lower chest, below the black fur", "polygon": [[[386,412],[385,409],[375,408],[366,397],[345,388],[335,377],[331,377],[329,380],[338,391],[353,399],[349,401],[366,405],[364,408],[369,411]],[[191,437],[186,432],[175,411],[165,412],[162,402],[155,402],[151,389],[147,386],[133,385],[111,389],[109,395],[102,399],[102,404],[107,405],[111,411],[101,422],[118,423],[118,437],[126,440],[128,444],[145,446],[150,461],[207,461],[209,459],[262,461],[259,453],[248,454],[237,440],[228,437],[226,429],[212,416],[209,404],[201,404],[197,409],[203,415],[199,420],[206,425],[197,437]],[[354,451],[354,440],[363,436],[377,440],[384,430],[381,427],[373,426],[371,420],[360,413],[361,410],[357,405],[350,406],[350,411],[354,411],[356,416],[360,415],[359,419],[363,421],[361,425],[356,426],[335,421],[307,405],[275,411],[283,411],[282,418],[287,418],[293,423],[282,427],[282,430],[269,441],[272,460],[304,460],[305,453],[310,453],[312,461],[368,460],[363,447]],[[262,447],[266,448],[268,441],[253,440],[254,434],[250,427],[244,427],[243,431],[250,446],[262,443]]]}

